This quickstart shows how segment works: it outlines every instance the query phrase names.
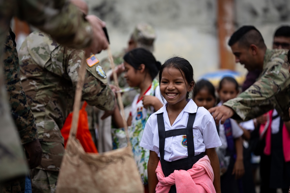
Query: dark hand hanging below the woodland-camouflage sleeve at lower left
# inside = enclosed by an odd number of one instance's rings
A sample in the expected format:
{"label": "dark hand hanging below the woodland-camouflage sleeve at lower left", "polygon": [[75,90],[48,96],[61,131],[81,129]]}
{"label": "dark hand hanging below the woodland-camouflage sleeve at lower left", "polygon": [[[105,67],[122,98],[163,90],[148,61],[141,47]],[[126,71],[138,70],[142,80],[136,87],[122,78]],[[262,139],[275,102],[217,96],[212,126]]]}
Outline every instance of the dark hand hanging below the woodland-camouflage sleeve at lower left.
{"label": "dark hand hanging below the woodland-camouflage sleeve at lower left", "polygon": [[33,169],[39,166],[42,156],[42,149],[39,140],[36,139],[35,141],[24,144],[23,146],[26,151],[29,168]]}

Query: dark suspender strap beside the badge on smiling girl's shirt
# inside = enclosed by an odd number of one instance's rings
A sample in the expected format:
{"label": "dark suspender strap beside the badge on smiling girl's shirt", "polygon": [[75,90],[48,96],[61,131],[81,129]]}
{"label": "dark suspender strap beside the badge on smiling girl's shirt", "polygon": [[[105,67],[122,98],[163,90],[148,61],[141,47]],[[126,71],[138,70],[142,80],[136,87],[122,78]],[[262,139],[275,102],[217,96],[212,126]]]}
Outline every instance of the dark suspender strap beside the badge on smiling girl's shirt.
{"label": "dark suspender strap beside the badge on smiling girl's shirt", "polygon": [[[198,107],[197,107],[198,109]],[[197,111],[196,109],[196,111]],[[187,126],[186,126],[186,140],[187,140],[187,152],[188,157],[194,156],[194,142],[193,142],[193,123],[196,113],[189,113]]]}

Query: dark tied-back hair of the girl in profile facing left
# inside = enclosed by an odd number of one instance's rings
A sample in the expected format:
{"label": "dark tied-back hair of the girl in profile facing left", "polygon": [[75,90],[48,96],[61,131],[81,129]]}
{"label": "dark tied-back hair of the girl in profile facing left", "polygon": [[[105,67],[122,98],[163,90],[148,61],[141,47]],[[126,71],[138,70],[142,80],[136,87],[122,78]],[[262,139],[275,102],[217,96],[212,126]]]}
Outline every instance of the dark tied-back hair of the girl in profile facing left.
{"label": "dark tied-back hair of the girl in profile facing left", "polygon": [[123,59],[136,70],[139,69],[141,64],[144,64],[145,69],[149,72],[152,80],[157,76],[161,67],[161,63],[156,61],[153,54],[144,48],[132,49],[125,54]]}

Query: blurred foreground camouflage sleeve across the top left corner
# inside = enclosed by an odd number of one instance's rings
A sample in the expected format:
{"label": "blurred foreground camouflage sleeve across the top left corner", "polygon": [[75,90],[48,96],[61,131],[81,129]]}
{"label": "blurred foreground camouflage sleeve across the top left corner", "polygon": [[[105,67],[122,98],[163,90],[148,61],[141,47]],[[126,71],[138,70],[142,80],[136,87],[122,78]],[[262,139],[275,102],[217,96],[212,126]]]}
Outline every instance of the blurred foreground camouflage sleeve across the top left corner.
{"label": "blurred foreground camouflage sleeve across the top left corner", "polygon": [[[84,14],[66,0],[14,0],[16,16],[50,34],[57,42],[73,48],[90,45],[93,30]],[[9,1],[10,5],[14,4]],[[13,9],[15,10],[15,8]]]}

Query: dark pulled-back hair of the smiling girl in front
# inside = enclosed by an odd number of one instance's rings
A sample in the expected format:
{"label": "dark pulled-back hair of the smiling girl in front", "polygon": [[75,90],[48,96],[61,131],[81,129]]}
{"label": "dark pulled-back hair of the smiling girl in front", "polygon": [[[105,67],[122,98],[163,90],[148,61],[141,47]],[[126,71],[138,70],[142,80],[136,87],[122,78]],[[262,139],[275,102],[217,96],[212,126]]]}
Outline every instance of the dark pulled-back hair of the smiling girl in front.
{"label": "dark pulled-back hair of the smiling girl in front", "polygon": [[[159,71],[159,84],[161,83],[161,78],[162,78],[162,72],[165,68],[169,68],[169,67],[174,67],[176,69],[178,69],[181,74],[184,74],[183,79],[186,80],[189,84],[191,84],[191,82],[193,82],[193,91],[191,91],[193,93],[193,95],[195,95],[195,82],[193,79],[193,68],[191,66],[191,64],[189,63],[189,61],[187,61],[184,58],[180,58],[180,57],[173,57],[173,58],[169,58],[168,60],[166,60],[164,62],[164,64],[161,66],[160,71]],[[186,94],[186,99],[188,98],[192,98],[189,97],[189,92],[187,92]]]}

